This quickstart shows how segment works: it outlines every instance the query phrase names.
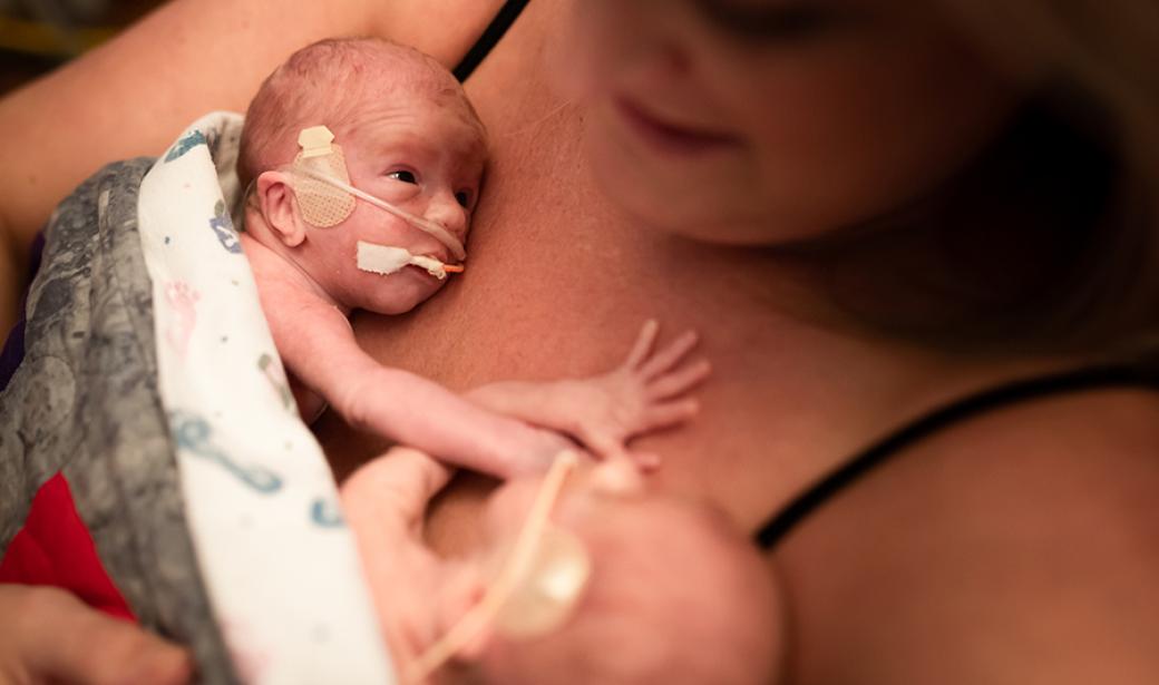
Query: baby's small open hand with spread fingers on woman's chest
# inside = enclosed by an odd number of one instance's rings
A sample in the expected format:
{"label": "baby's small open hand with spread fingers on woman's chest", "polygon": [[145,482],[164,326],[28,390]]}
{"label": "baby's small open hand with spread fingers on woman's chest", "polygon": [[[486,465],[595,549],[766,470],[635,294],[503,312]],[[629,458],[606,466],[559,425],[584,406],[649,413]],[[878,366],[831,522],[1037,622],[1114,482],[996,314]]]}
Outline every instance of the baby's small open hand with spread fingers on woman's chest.
{"label": "baby's small open hand with spread fingers on woman's chest", "polygon": [[559,384],[553,405],[569,417],[567,432],[589,450],[604,457],[629,456],[642,467],[659,464],[654,454],[629,453],[626,443],[641,433],[671,428],[688,421],[699,403],[688,393],[712,366],[707,359],[686,362],[697,344],[697,334],[683,333],[654,352],[658,330],[648,321],[624,363],[603,376]]}

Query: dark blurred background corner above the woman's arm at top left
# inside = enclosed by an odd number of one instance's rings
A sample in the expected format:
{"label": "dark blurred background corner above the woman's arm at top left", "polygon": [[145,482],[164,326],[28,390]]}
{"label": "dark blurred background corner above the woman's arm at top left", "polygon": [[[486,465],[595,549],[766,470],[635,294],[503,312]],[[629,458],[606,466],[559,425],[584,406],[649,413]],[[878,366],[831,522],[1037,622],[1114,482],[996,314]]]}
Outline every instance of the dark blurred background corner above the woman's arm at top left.
{"label": "dark blurred background corner above the woman's arm at top left", "polygon": [[0,0],[0,95],[90,50],[161,0]]}

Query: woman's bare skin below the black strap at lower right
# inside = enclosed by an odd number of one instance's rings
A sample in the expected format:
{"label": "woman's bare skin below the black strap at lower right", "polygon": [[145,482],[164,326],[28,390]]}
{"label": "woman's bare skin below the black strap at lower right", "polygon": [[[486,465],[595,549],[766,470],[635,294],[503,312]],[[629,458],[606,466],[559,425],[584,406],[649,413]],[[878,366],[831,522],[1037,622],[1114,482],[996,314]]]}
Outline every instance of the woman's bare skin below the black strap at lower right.
{"label": "woman's bare skin below the black strap at lower right", "polygon": [[[1055,395],[932,436],[779,549],[793,679],[1159,682],[1156,493],[1156,392]],[[814,658],[821,643],[858,672]]]}

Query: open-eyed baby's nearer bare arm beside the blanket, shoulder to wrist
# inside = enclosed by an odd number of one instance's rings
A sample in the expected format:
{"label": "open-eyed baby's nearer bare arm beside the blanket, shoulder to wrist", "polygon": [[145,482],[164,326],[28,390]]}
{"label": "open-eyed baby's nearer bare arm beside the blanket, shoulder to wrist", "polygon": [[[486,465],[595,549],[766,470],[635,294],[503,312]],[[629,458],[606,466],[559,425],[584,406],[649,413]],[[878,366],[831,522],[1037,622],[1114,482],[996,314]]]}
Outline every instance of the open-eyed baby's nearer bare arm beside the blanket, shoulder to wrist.
{"label": "open-eyed baby's nearer bare arm beside the blanket, shoulder to wrist", "polygon": [[260,292],[286,367],[356,428],[502,478],[540,471],[570,446],[560,435],[382,366],[358,347],[342,312],[313,293],[269,282]]}

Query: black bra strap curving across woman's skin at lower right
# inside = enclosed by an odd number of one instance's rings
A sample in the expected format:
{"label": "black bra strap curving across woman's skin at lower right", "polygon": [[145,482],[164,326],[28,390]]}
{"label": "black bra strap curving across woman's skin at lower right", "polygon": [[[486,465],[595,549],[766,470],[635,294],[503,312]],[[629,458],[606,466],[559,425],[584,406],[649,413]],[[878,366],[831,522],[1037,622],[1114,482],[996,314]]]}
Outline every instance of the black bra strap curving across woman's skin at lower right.
{"label": "black bra strap curving across woman's skin at lower right", "polygon": [[1132,366],[1099,366],[1014,381],[952,402],[888,435],[799,495],[757,532],[756,541],[764,549],[773,548],[794,526],[841,489],[890,457],[948,425],[1045,395],[1102,387],[1159,389],[1159,377]]}

